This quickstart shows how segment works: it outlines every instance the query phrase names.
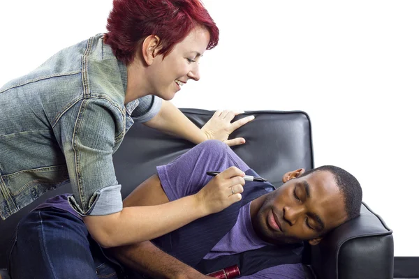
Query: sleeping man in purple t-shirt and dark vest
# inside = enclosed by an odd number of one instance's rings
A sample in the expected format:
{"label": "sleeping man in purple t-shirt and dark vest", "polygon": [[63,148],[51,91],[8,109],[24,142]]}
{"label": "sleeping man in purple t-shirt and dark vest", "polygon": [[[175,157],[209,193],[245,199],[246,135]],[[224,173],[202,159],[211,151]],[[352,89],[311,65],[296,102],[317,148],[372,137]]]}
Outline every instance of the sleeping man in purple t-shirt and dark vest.
{"label": "sleeping man in purple t-shirt and dark vest", "polygon": [[[226,144],[203,142],[157,167],[124,206],[193,195],[207,183],[221,185],[235,167],[258,176]],[[207,171],[221,173],[212,177]],[[235,179],[226,195],[239,196],[240,202],[152,242],[108,251],[125,266],[126,278],[210,278],[203,274],[237,264],[240,278],[303,279],[303,241],[316,245],[331,229],[360,215],[360,183],[339,167],[287,172],[276,190],[269,182]]]}

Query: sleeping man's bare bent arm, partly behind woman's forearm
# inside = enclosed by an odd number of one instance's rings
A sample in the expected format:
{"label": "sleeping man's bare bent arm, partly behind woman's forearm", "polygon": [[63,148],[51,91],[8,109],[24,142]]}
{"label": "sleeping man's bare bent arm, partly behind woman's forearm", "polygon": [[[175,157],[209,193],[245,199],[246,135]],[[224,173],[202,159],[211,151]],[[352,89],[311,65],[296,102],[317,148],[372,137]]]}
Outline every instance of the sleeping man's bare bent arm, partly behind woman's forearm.
{"label": "sleeping man's bare bent arm, partly behind woman's forearm", "polygon": [[[169,199],[161,187],[159,176],[155,174],[141,183],[124,199],[124,207],[154,206],[168,202]],[[150,241],[115,247],[110,251],[122,264],[135,271],[147,273],[153,278],[210,278],[192,269],[191,266],[180,262],[175,257],[166,254]]]}

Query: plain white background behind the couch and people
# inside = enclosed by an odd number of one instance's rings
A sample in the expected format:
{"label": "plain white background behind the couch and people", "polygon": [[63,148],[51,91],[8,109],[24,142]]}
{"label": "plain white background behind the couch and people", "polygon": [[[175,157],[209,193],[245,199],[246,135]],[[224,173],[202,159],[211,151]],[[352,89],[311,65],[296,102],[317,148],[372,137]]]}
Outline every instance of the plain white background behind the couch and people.
{"label": "plain white background behind the couch and people", "polygon": [[[304,110],[316,166],[355,174],[419,256],[419,1],[204,0],[221,34],[178,107]],[[0,1],[0,86],[106,31],[111,0]]]}

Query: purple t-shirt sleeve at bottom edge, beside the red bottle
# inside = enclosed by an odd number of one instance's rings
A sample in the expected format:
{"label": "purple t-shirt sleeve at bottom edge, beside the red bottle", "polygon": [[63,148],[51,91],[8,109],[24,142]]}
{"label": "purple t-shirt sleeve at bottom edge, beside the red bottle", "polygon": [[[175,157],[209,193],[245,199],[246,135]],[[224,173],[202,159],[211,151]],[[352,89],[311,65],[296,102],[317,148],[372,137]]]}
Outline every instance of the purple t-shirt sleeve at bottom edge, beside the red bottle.
{"label": "purple t-shirt sleeve at bottom edge, beside the red bottle", "polygon": [[305,279],[302,264],[282,264],[263,269],[241,279]]}

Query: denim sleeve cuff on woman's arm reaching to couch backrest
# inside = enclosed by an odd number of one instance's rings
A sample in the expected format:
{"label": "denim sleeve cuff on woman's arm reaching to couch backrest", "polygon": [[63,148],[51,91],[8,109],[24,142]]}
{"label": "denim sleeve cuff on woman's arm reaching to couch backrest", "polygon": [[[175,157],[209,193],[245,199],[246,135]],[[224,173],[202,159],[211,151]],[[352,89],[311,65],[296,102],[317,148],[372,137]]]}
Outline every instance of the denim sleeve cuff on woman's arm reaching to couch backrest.
{"label": "denim sleeve cuff on woman's arm reaching to couch backrest", "polygon": [[147,122],[159,113],[161,103],[161,98],[154,95],[138,98],[138,106],[131,113],[131,118],[135,122]]}

